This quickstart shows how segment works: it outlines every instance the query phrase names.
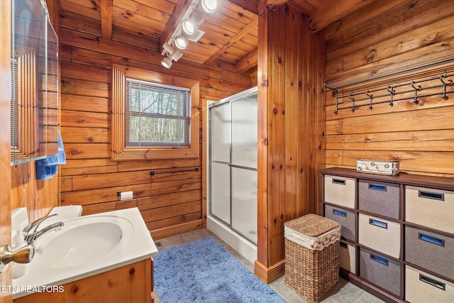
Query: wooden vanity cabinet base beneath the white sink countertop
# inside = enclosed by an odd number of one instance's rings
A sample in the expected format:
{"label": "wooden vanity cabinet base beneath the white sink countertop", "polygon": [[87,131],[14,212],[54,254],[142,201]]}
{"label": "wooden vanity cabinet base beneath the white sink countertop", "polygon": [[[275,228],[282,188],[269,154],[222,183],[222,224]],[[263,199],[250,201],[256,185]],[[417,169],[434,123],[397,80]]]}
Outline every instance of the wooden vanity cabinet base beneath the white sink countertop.
{"label": "wooden vanity cabinet base beneath the white sink countertop", "polygon": [[13,303],[153,303],[153,258],[62,286],[63,292],[28,294]]}

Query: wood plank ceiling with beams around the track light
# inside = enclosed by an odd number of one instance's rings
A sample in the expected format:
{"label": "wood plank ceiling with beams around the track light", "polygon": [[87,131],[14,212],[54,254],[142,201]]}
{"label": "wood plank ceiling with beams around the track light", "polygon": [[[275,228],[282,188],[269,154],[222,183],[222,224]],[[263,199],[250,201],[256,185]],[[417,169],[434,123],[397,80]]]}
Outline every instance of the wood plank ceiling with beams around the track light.
{"label": "wood plank ceiling with beams around the track light", "polygon": [[[372,0],[218,0],[215,13],[204,14],[197,43],[180,60],[245,72],[257,65],[258,13],[289,3],[311,17],[319,31]],[[162,44],[191,0],[59,0],[62,26],[161,53]],[[203,13],[201,6],[196,9]]]}

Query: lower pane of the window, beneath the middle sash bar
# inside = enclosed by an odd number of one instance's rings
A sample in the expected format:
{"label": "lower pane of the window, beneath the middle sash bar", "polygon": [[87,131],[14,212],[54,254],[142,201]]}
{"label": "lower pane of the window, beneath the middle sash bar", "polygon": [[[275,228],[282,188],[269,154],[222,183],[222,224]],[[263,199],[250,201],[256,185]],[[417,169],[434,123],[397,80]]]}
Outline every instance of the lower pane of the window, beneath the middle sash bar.
{"label": "lower pane of the window, beneath the middle sash bar", "polygon": [[150,116],[131,116],[130,141],[152,143],[184,143],[185,124],[182,119],[165,119]]}

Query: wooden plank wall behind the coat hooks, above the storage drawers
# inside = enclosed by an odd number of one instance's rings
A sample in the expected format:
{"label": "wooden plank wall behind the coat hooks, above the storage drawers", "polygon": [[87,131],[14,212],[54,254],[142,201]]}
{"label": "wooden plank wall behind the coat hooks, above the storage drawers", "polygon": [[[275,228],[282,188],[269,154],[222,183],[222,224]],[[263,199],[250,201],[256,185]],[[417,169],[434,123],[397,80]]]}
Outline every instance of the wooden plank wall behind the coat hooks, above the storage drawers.
{"label": "wooden plank wall behind the coat hooks, above the storage drawers", "polygon": [[[405,68],[442,50],[440,55],[452,55],[453,26],[452,1],[375,1],[326,29],[328,81],[386,65]],[[395,77],[383,81],[392,85]],[[406,75],[406,81],[414,77]],[[421,98],[418,104],[406,100],[372,110],[344,109],[337,115],[334,102],[328,91],[327,167],[354,168],[357,158],[398,159],[404,172],[454,176],[454,94]]]}

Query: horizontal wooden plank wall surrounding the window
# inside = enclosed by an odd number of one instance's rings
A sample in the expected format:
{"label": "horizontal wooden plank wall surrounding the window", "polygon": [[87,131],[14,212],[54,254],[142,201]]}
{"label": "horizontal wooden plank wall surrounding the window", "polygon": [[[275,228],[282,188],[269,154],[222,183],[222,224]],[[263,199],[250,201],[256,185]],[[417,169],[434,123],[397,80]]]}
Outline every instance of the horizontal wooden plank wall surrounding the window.
{"label": "horizontal wooden plank wall surrounding the window", "polygon": [[[201,228],[202,155],[175,160],[110,159],[111,67],[127,65],[198,79],[201,99],[211,100],[250,88],[250,77],[184,62],[184,56],[167,70],[160,65],[160,54],[101,38],[101,28],[90,24],[92,19],[80,16],[82,24],[75,22],[77,18],[73,13],[63,16],[60,28],[62,139],[67,155],[61,204],[80,204],[83,214],[138,206],[155,239]],[[150,176],[152,170],[154,176]],[[117,192],[125,191],[133,192],[133,200],[120,202]]]}

